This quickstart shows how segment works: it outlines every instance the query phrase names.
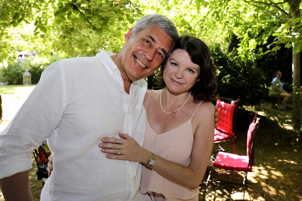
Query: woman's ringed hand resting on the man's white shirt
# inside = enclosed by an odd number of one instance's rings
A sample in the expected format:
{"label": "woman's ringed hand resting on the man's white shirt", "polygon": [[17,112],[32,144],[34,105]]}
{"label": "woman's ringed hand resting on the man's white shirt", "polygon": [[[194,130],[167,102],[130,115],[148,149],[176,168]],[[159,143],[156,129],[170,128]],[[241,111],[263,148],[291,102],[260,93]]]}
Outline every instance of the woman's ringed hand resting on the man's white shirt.
{"label": "woman's ringed hand resting on the man's white shirt", "polygon": [[143,149],[137,141],[125,133],[118,133],[123,139],[118,138],[103,138],[102,142],[98,146],[103,153],[109,153],[106,155],[108,159],[128,160],[135,162],[147,163],[152,155],[146,149]]}

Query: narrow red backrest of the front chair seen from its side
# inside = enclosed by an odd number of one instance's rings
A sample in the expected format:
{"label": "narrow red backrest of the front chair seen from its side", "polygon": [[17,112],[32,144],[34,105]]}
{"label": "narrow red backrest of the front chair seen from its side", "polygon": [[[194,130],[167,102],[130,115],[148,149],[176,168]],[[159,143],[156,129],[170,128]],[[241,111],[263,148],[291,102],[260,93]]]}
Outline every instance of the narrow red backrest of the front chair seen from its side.
{"label": "narrow red backrest of the front chair seen from its side", "polygon": [[249,157],[249,170],[252,169],[255,161],[255,135],[258,131],[259,121],[260,119],[257,117],[257,114],[255,114],[255,118],[249,125],[249,130],[247,132],[246,154]]}

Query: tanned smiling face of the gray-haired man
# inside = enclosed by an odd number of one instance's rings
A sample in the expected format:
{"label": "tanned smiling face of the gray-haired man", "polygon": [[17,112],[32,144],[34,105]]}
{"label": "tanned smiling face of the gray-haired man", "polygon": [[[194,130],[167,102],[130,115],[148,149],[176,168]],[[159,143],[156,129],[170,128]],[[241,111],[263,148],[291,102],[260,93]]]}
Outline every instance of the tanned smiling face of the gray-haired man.
{"label": "tanned smiling face of the gray-haired man", "polygon": [[117,64],[124,81],[133,82],[151,75],[169,54],[173,39],[155,24],[136,36],[132,28],[125,35],[126,43],[119,52]]}

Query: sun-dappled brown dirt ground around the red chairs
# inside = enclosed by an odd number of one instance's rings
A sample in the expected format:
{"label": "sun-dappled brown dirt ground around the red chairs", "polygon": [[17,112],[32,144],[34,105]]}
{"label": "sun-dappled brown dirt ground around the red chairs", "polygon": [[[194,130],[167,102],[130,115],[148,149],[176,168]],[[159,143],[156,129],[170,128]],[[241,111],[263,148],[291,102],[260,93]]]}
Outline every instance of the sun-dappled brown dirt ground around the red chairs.
{"label": "sun-dappled brown dirt ground around the red chairs", "polygon": [[[255,166],[253,172],[248,175],[244,200],[302,201],[301,132],[290,127],[291,111],[272,109],[269,103],[261,104],[258,108],[242,106],[238,112],[236,153],[246,154],[246,133],[254,111],[258,111],[261,120],[255,141]],[[214,146],[215,148],[217,147]],[[30,184],[34,201],[39,200],[42,189],[42,181],[36,180],[36,170],[36,163],[33,162]],[[232,180],[242,179],[238,175],[221,176]],[[201,192],[199,200],[203,199],[204,187],[205,178],[199,187]],[[205,200],[243,200],[243,189],[231,185],[210,185]],[[0,201],[4,201],[1,190]]]}

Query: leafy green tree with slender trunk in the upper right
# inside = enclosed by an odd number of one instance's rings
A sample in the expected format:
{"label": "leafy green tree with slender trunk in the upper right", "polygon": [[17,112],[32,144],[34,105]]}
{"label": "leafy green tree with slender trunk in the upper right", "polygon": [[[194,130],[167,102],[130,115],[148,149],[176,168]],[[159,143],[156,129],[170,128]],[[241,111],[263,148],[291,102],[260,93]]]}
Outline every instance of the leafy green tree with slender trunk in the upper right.
{"label": "leafy green tree with slender trunk in the upper right", "polygon": [[[301,33],[301,0],[209,0],[201,1],[208,7],[208,16],[214,21],[212,31],[222,28],[224,38],[233,34],[239,39],[237,51],[242,58],[255,61],[261,58],[261,53],[277,51],[281,44],[292,47],[292,90],[293,116],[292,126],[301,126],[300,98],[300,55],[302,50]],[[215,5],[215,6],[213,6]],[[268,44],[267,39],[276,36],[275,42]],[[255,52],[257,46],[267,44],[268,48]]]}

